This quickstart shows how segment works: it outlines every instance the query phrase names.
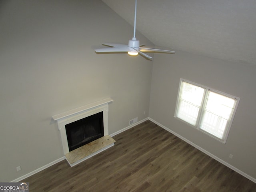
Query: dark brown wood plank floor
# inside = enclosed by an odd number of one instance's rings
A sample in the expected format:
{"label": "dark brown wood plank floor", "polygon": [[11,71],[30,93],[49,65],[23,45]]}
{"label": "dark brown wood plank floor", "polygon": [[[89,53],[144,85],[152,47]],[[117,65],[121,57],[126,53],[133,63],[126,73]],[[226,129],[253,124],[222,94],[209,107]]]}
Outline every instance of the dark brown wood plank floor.
{"label": "dark brown wood plank floor", "polygon": [[256,192],[256,184],[156,124],[113,137],[115,146],[70,167],[59,162],[21,182],[30,192]]}

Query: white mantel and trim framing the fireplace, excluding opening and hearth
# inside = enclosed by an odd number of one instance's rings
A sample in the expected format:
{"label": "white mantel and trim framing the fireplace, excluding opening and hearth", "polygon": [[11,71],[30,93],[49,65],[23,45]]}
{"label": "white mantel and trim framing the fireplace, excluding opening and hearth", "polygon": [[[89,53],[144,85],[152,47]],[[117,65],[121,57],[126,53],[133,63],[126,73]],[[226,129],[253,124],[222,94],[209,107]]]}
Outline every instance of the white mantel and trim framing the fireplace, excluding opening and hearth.
{"label": "white mantel and trim framing the fireplace, excluding opening and hearth", "polygon": [[58,129],[60,130],[60,137],[63,146],[64,155],[69,153],[68,140],[66,135],[65,125],[74,121],[86,118],[93,114],[103,112],[104,136],[108,135],[108,104],[112,102],[111,98],[106,98],[98,102],[88,104],[67,112],[52,116],[53,120],[57,121]]}

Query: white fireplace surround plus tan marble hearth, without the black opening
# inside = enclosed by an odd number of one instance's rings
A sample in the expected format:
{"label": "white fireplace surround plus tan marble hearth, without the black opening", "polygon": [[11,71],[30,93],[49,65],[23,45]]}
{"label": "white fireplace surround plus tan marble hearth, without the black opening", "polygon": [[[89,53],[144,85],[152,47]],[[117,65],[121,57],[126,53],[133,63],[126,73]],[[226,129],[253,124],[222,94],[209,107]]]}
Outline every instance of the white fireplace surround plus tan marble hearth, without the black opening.
{"label": "white fireplace surround plus tan marble hearth, without the black opening", "polygon": [[[114,145],[115,141],[108,136],[108,104],[110,102],[113,102],[112,98],[106,98],[104,100],[52,116],[53,120],[57,121],[63,152],[70,166],[74,166]],[[70,152],[65,125],[99,112],[103,112],[104,137]],[[102,146],[102,144],[104,144],[104,146]]]}

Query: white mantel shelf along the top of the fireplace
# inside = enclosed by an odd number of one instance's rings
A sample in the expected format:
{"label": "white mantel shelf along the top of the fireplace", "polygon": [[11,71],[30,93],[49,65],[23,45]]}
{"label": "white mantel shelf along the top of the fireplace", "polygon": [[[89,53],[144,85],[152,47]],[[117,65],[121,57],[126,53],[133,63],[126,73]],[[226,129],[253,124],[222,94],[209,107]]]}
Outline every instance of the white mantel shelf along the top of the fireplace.
{"label": "white mantel shelf along the top of the fireplace", "polygon": [[113,101],[112,98],[106,98],[104,100],[100,100],[100,101],[97,101],[97,102],[94,102],[94,103],[91,103],[91,104],[88,104],[88,105],[85,105],[85,106],[82,106],[82,107],[79,107],[79,108],[76,108],[76,109],[73,109],[73,110],[69,110],[67,112],[64,112],[64,113],[61,113],[61,114],[58,114],[58,115],[54,115],[54,116],[52,116],[52,119],[55,120],[55,121],[60,120],[60,119],[65,118],[67,116],[70,116],[70,115],[73,115],[73,114],[76,114],[76,113],[79,113],[79,112],[83,112],[83,111],[86,111],[86,110],[90,110],[94,107],[98,107],[98,106],[110,103],[112,101]]}

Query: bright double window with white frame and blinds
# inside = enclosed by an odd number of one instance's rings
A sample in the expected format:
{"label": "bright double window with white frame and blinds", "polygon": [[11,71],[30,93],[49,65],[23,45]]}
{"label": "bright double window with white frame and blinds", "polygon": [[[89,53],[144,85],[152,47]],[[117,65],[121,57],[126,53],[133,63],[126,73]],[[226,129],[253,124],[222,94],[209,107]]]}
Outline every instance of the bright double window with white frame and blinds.
{"label": "bright double window with white frame and blinds", "polygon": [[175,117],[226,143],[239,98],[184,79]]}

